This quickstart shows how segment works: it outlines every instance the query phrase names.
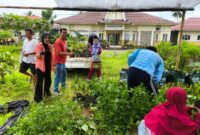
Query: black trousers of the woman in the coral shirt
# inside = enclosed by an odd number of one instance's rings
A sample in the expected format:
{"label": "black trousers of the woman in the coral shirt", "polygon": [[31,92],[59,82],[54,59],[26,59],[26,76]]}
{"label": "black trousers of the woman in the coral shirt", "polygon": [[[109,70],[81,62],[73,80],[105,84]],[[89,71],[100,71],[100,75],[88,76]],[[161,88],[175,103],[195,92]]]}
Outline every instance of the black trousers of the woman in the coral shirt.
{"label": "black trousers of the woman in the coral shirt", "polygon": [[[51,96],[51,71],[42,72],[40,69],[36,69],[37,81],[35,86],[34,100],[40,102],[44,96]],[[44,90],[43,90],[44,88]]]}

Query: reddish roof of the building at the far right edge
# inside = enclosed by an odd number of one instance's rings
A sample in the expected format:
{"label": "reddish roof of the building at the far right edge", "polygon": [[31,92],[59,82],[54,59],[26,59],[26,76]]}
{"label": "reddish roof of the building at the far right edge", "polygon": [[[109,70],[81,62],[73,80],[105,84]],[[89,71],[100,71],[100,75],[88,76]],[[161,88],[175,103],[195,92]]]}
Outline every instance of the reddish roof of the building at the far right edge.
{"label": "reddish roof of the building at the far right edge", "polygon": [[[172,27],[173,31],[180,31],[181,25]],[[200,31],[200,18],[189,18],[185,20],[184,31]]]}

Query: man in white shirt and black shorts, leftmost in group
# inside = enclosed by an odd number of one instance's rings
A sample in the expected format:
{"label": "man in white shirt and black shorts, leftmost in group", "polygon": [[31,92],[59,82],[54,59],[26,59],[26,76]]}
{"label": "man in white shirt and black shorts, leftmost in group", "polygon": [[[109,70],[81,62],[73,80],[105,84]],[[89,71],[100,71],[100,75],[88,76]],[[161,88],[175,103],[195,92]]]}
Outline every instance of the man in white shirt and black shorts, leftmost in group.
{"label": "man in white shirt and black shorts, leftmost in group", "polygon": [[[33,39],[32,29],[26,29],[26,39],[23,43],[22,54],[20,58],[20,69],[19,72],[30,76],[31,79],[36,79],[36,70],[35,70],[35,47],[38,43],[37,40]],[[30,68],[31,73],[27,72]]]}

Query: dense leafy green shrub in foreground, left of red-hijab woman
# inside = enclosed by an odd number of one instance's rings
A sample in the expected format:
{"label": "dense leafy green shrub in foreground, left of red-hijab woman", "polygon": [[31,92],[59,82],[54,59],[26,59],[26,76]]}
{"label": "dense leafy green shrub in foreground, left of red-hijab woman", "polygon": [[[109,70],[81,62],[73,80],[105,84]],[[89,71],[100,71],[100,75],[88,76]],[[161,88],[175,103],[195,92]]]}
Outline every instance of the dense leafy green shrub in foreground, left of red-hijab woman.
{"label": "dense leafy green shrub in foreground, left of red-hijab woman", "polygon": [[103,134],[125,134],[154,105],[143,87],[127,90],[126,84],[114,80],[92,83],[92,95],[97,97],[95,119]]}

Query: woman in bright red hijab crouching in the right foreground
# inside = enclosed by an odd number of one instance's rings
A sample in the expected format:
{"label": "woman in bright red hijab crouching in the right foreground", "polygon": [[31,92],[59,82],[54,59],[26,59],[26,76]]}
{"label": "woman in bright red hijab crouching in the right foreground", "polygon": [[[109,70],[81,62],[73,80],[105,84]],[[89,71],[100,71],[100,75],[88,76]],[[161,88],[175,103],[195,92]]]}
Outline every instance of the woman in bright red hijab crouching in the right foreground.
{"label": "woman in bright red hijab crouching in the right foreground", "polygon": [[173,87],[166,93],[167,101],[154,107],[140,123],[139,135],[195,135],[200,129],[200,111],[192,120],[186,106],[187,93]]}

